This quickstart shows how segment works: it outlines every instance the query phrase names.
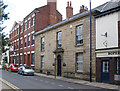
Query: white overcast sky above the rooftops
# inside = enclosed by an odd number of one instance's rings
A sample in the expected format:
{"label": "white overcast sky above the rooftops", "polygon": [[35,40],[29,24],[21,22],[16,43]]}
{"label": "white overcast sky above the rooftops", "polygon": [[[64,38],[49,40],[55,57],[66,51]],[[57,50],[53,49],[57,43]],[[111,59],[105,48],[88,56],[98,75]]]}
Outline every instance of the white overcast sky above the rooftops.
{"label": "white overcast sky above the rooftops", "polygon": [[[7,28],[4,32],[9,33],[12,29],[14,21],[22,21],[35,8],[44,6],[47,4],[47,0],[3,0],[8,5],[5,12],[9,12],[9,20],[4,22],[4,26]],[[85,5],[89,9],[89,0],[57,0],[57,10],[63,15],[63,19],[66,18],[66,6],[67,1],[72,2],[73,14],[76,14],[80,10],[81,5]],[[91,0],[92,8],[97,7],[110,0]]]}

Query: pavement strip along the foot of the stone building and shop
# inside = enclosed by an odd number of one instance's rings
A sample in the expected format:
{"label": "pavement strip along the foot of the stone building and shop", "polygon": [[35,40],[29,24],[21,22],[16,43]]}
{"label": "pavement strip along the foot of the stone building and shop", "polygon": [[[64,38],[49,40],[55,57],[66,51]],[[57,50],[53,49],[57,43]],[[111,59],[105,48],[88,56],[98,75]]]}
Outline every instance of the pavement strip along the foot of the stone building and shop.
{"label": "pavement strip along the foot of the stone building and shop", "polygon": [[118,85],[112,85],[112,84],[106,84],[106,83],[99,83],[99,82],[89,82],[85,80],[79,80],[79,79],[72,79],[72,78],[65,78],[65,77],[56,77],[52,75],[46,75],[46,74],[41,74],[41,73],[35,73],[37,76],[43,76],[43,77],[48,77],[52,79],[59,79],[67,82],[72,82],[72,83],[78,83],[78,84],[83,84],[83,85],[89,85],[89,86],[95,86],[95,87],[101,87],[105,89],[115,89],[120,91],[120,86]]}

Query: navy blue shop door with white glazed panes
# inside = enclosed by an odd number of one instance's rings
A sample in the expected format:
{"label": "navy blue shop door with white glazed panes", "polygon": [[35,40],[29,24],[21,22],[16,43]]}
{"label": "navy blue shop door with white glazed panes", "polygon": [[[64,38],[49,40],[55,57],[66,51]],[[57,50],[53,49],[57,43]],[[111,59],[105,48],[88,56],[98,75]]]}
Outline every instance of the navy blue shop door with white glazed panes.
{"label": "navy blue shop door with white glazed panes", "polygon": [[102,61],[102,69],[101,69],[101,81],[104,83],[109,83],[109,61]]}

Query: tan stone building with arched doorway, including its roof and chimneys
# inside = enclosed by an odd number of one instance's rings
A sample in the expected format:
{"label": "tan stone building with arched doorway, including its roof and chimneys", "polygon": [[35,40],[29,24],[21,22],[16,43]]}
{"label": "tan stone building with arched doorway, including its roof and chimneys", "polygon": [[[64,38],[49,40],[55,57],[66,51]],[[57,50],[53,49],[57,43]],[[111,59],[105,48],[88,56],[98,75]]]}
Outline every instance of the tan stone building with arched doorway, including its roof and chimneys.
{"label": "tan stone building with arched doorway, including its roof and chimneys", "polygon": [[[71,4],[66,9],[73,10]],[[67,18],[35,33],[35,70],[56,76],[90,77],[90,21],[89,11]],[[67,10],[66,10],[67,11]],[[80,10],[82,11],[82,10]],[[86,11],[86,12],[85,12]],[[94,14],[96,10],[92,10]],[[95,19],[92,15],[92,74],[95,78]],[[95,80],[95,79],[94,79]]]}

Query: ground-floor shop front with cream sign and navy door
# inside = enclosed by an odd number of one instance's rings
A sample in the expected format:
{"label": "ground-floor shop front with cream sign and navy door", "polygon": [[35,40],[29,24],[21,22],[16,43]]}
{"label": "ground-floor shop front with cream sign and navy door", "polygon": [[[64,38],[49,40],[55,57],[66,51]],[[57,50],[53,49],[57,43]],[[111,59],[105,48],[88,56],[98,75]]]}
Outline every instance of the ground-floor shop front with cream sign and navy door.
{"label": "ground-floor shop front with cream sign and navy door", "polygon": [[120,49],[96,50],[96,81],[120,84]]}

